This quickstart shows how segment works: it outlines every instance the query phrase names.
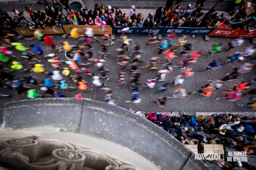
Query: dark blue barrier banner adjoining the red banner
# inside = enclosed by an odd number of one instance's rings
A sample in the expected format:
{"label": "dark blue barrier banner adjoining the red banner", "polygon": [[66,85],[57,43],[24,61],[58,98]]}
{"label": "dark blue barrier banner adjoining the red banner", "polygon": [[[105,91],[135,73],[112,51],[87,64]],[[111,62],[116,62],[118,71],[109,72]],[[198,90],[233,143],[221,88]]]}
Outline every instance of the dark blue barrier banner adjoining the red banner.
{"label": "dark blue barrier banner adjoining the red banner", "polygon": [[177,35],[208,35],[215,28],[187,28],[187,27],[165,27],[162,31],[162,35],[167,35],[170,33],[175,33]]}

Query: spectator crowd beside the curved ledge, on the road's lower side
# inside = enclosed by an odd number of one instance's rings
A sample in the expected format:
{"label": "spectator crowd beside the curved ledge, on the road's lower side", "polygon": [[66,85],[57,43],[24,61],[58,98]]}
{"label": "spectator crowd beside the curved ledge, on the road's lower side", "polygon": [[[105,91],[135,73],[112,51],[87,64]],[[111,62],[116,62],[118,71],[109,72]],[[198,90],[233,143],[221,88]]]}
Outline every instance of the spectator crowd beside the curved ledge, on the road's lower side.
{"label": "spectator crowd beside the curved ledge, on the road's lower side", "polygon": [[[175,136],[183,144],[223,144],[228,149],[255,155],[255,116],[234,114],[210,114],[203,116],[166,115],[156,112],[136,112],[140,116],[151,120],[168,133]],[[225,159],[226,160],[226,159]],[[253,169],[255,165],[248,162],[219,161],[218,166],[223,169],[244,167]]]}

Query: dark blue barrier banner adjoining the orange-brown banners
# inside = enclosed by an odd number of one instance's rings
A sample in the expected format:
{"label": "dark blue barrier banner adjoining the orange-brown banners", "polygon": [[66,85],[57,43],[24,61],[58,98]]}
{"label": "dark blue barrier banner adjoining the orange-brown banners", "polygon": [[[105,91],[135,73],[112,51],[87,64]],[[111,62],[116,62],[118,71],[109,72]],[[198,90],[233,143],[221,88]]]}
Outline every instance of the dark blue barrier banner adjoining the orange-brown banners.
{"label": "dark blue barrier banner adjoining the orange-brown banners", "polygon": [[[122,27],[114,27],[113,34],[121,35],[122,34]],[[130,27],[130,30],[125,31],[127,35],[148,35],[153,32],[161,32],[163,31],[164,27]]]}

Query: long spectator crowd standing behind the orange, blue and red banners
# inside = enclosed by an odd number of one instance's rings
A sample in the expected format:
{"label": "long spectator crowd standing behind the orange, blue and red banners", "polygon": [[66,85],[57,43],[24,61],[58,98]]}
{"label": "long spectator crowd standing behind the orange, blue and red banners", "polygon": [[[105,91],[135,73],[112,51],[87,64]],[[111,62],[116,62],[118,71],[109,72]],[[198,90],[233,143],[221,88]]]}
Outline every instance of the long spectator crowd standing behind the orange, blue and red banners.
{"label": "long spectator crowd standing behind the orange, blue and red banners", "polygon": [[[167,1],[170,2],[170,1]],[[179,2],[179,1],[177,1]],[[236,2],[236,1],[235,1]],[[67,0],[56,0],[50,4],[45,4],[45,13],[37,10],[33,11],[25,6],[26,12],[31,17],[31,22],[25,18],[18,10],[13,9],[14,18],[11,18],[7,12],[0,10],[1,25],[9,25],[12,28],[42,28],[61,25],[98,25],[100,27],[221,27],[233,29],[248,29],[254,31],[255,13],[246,14],[243,1],[234,3],[228,12],[218,14],[214,8],[207,13],[202,12],[205,0],[199,0],[195,4],[188,4],[182,10],[177,4],[166,3],[165,8],[159,7],[156,13],[150,12],[148,16],[143,16],[133,5],[129,13],[123,13],[119,8],[113,9],[110,5],[99,6],[95,4],[94,10],[80,9],[71,10]],[[64,15],[62,10],[67,11]],[[145,19],[144,19],[145,18]]]}

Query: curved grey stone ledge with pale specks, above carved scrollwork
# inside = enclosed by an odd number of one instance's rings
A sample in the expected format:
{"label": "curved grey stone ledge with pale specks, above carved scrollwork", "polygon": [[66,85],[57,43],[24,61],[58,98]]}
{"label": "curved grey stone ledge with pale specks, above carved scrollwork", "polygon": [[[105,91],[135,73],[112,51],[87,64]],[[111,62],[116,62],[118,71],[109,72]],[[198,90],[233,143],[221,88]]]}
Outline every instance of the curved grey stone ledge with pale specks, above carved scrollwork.
{"label": "curved grey stone ledge with pale specks, above carved scrollwork", "polygon": [[203,161],[176,138],[126,109],[74,98],[24,100],[0,109],[0,125],[6,129],[38,126],[90,135],[129,148],[161,169],[207,169]]}

